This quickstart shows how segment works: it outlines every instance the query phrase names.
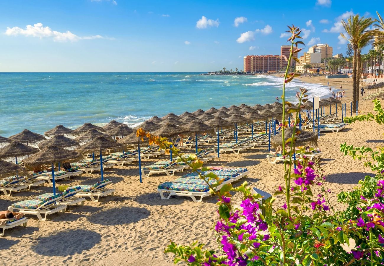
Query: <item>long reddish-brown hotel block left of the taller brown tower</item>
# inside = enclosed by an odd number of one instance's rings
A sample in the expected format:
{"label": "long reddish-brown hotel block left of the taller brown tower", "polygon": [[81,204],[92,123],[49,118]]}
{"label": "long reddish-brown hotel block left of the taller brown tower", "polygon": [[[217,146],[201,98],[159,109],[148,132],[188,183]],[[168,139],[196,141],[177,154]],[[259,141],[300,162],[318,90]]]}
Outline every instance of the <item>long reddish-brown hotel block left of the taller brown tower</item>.
{"label": "long reddish-brown hotel block left of the taller brown tower", "polygon": [[247,55],[244,57],[244,71],[249,73],[280,71],[280,55]]}

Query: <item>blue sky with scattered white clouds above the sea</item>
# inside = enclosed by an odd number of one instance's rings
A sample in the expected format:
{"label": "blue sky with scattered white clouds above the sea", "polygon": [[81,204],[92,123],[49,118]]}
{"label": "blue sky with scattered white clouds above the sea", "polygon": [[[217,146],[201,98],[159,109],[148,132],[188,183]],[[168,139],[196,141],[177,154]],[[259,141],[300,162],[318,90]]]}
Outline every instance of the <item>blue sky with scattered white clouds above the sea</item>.
{"label": "blue sky with scattered white clouds above the sea", "polygon": [[[384,8],[350,0],[0,1],[0,72],[205,72],[280,55],[286,25],[345,54],[341,19]],[[306,51],[307,48],[304,48]]]}

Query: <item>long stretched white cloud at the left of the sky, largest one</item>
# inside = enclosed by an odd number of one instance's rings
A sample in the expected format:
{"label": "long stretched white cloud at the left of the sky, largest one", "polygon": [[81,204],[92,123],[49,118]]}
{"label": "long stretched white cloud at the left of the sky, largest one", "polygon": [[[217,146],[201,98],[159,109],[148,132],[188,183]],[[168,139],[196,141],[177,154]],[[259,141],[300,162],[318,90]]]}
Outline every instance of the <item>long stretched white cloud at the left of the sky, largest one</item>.
{"label": "long stretched white cloud at the left of the sky, largest one", "polygon": [[38,37],[42,38],[53,38],[55,42],[77,42],[78,40],[93,40],[93,39],[112,39],[105,38],[101,35],[93,35],[93,36],[84,36],[79,37],[76,34],[73,34],[69,30],[66,32],[57,32],[52,30],[50,27],[43,27],[42,23],[36,23],[33,26],[27,25],[25,29],[19,27],[9,28],[5,31],[5,35],[8,36],[18,36],[22,35],[25,37]]}

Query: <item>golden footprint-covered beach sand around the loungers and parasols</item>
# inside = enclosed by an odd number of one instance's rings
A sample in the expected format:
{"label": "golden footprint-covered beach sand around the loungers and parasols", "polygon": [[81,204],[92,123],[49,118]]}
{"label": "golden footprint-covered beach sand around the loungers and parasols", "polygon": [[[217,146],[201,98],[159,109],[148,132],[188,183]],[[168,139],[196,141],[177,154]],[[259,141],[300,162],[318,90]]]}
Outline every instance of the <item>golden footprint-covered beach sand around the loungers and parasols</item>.
{"label": "golden footprint-covered beach sand around the loungers and parasols", "polygon": [[[309,79],[309,78],[308,78]],[[304,79],[303,79],[304,80]],[[311,82],[323,82],[312,78]],[[332,84],[336,84],[333,80]],[[348,91],[348,81],[344,83]],[[370,101],[361,101],[362,113],[372,110]],[[348,113],[348,112],[347,112]],[[369,135],[366,129],[369,128]],[[382,144],[384,126],[375,122],[357,122],[348,125],[339,133],[320,135],[319,147],[323,150],[321,162],[327,176],[326,188],[331,190],[330,199],[335,209],[344,206],[337,202],[341,191],[349,191],[370,175],[362,161],[344,157],[340,143],[376,148]],[[215,145],[215,144],[212,144]],[[211,145],[207,145],[209,147]],[[202,146],[201,148],[204,148]],[[193,152],[193,150],[185,150]],[[220,158],[207,166],[247,167],[250,174],[233,185],[247,181],[250,186],[273,194],[283,183],[281,163],[270,164],[266,155],[268,146],[255,147],[250,151],[220,154]],[[149,165],[157,160],[167,160],[163,155],[143,161]],[[188,171],[188,170],[187,170]],[[185,173],[185,172],[184,172]],[[177,173],[181,176],[184,173]],[[71,206],[65,213],[48,216],[48,221],[40,222],[36,216],[27,216],[26,228],[7,230],[0,238],[0,250],[4,261],[18,258],[18,265],[173,265],[172,257],[164,254],[170,239],[179,244],[189,244],[198,240],[207,248],[217,249],[217,243],[210,228],[217,219],[215,197],[205,198],[194,203],[190,198],[175,196],[162,200],[157,186],[175,176],[143,177],[139,183],[138,164],[106,170],[104,178],[110,178],[116,189],[114,196],[107,196],[100,202],[87,200],[84,206]],[[70,181],[58,181],[58,185],[91,185],[100,180],[100,174],[75,177]],[[5,210],[12,203],[31,199],[33,196],[51,192],[52,185],[46,184],[30,191],[14,193],[0,201],[0,209]],[[313,193],[320,191],[314,188]],[[239,195],[235,195],[238,198]],[[281,199],[276,201],[280,204]],[[145,254],[145,255],[144,255]]]}

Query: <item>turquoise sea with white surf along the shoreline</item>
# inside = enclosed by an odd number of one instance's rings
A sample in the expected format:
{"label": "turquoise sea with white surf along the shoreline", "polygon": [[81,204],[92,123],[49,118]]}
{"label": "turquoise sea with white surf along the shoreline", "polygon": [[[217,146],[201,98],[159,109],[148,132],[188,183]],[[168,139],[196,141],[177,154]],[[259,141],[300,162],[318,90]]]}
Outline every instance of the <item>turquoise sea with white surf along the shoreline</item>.
{"label": "turquoise sea with white surf along the shoreline", "polygon": [[[43,134],[56,125],[117,120],[136,126],[154,115],[177,115],[211,107],[273,103],[283,78],[271,75],[212,76],[201,73],[0,73],[0,136],[27,128]],[[287,100],[300,87],[328,97],[320,84],[293,80]]]}

